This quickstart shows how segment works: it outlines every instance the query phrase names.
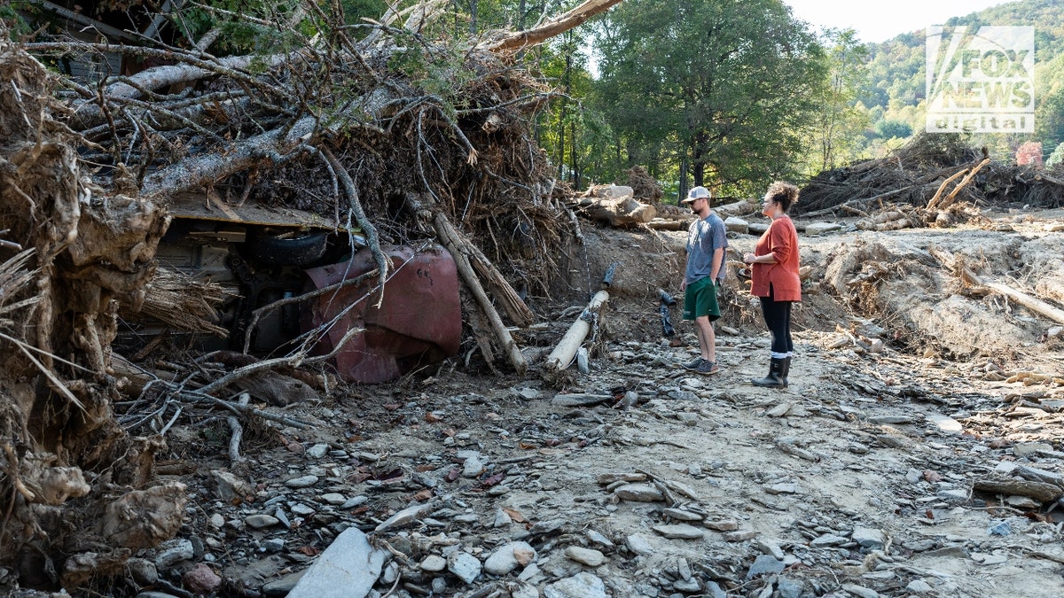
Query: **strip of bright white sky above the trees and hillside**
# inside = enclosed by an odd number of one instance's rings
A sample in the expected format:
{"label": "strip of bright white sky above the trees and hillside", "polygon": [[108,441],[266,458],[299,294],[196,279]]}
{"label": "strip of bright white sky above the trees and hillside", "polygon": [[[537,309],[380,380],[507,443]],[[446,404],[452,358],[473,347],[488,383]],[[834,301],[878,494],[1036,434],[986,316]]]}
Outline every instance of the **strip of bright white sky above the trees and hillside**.
{"label": "strip of bright white sky above the trees and hillside", "polygon": [[814,28],[852,28],[866,43],[885,41],[899,33],[911,33],[929,24],[942,24],[950,17],[963,17],[1002,0],[784,0],[794,16]]}

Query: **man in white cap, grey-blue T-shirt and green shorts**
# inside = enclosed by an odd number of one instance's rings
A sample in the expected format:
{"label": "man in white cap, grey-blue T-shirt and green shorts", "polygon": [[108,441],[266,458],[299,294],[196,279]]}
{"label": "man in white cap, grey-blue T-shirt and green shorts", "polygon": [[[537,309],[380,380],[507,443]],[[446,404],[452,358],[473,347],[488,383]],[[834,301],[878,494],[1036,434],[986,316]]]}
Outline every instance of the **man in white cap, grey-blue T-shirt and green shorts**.
{"label": "man in white cap, grey-blue T-shirt and green shorts", "polygon": [[687,267],[680,289],[683,290],[683,319],[695,321],[699,358],[684,367],[699,373],[719,371],[716,360],[716,335],[713,320],[720,317],[717,285],[725,278],[725,248],[728,247],[725,222],[710,209],[710,190],[691,189],[686,203],[698,218],[687,230]]}

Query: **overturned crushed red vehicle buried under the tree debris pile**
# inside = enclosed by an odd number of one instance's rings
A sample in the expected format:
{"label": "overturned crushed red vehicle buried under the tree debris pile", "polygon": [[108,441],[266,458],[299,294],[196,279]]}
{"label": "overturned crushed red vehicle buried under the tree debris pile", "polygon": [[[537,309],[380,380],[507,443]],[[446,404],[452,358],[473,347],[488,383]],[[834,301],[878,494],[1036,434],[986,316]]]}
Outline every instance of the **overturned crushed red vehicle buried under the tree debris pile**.
{"label": "overturned crushed red vehicle buried under the tree debris pile", "polygon": [[[156,253],[160,266],[216,283],[227,297],[216,323],[229,339],[201,342],[203,349],[244,350],[247,338],[251,353],[278,355],[312,333],[319,336],[315,352],[328,354],[349,330],[359,329],[332,362],[340,378],[363,383],[394,380],[459,350],[458,270],[443,248],[382,247],[392,264],[380,305],[376,276],[301,304],[285,303],[375,269],[365,242],[320,216],[292,209],[200,196],[174,199],[169,212],[172,222]],[[261,310],[271,304],[282,306]],[[140,345],[167,327],[129,323],[131,344]]]}

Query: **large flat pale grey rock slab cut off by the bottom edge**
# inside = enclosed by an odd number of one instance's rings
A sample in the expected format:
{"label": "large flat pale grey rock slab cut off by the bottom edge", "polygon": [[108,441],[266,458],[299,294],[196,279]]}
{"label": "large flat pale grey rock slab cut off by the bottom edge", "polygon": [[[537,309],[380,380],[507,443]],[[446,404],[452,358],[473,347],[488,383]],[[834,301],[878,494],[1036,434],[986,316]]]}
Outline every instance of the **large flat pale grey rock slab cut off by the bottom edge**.
{"label": "large flat pale grey rock slab cut off by the bottom edge", "polygon": [[348,528],[318,555],[287,598],[363,598],[377,583],[385,554],[370,546],[359,528]]}

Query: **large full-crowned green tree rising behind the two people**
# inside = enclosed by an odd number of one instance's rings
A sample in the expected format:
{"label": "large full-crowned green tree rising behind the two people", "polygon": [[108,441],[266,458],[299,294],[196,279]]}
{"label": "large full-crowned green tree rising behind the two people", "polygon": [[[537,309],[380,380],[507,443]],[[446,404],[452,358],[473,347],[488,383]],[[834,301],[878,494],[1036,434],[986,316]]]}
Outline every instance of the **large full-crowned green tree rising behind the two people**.
{"label": "large full-crowned green tree rising behind the two people", "polygon": [[629,165],[746,190],[793,175],[826,65],[780,0],[627,0],[599,49],[598,97]]}

